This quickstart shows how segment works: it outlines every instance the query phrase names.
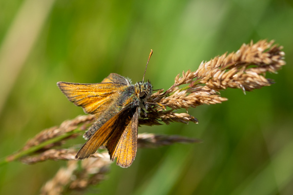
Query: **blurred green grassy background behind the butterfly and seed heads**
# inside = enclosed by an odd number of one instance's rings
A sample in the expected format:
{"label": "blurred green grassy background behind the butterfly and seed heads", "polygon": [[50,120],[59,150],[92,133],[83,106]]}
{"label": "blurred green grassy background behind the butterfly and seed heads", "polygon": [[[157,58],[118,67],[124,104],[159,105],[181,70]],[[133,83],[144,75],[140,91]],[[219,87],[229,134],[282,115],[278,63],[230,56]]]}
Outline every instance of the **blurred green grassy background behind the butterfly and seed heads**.
{"label": "blurred green grassy background behind the butterfly and seed heads", "polygon": [[[139,149],[131,167],[112,164],[88,195],[292,195],[293,3],[291,0],[0,0],[0,157],[65,119],[83,114],[56,86],[94,83],[109,73],[167,89],[182,71],[274,39],[287,65],[276,83],[190,109],[199,124],[139,132],[203,140]],[[80,139],[81,143],[84,141]],[[35,195],[65,162],[0,167],[1,195]]]}

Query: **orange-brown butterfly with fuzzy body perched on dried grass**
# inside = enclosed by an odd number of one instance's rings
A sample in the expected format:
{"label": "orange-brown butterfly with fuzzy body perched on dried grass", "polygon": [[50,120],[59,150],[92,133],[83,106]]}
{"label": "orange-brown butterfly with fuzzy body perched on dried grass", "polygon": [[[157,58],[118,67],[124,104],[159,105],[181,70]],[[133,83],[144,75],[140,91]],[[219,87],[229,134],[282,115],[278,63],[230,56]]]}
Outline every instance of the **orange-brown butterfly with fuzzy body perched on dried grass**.
{"label": "orange-brown butterfly with fuzzy body perched on dried grass", "polygon": [[[146,66],[151,55],[152,50]],[[117,158],[117,165],[129,167],[137,151],[138,119],[149,106],[146,100],[152,93],[150,82],[132,84],[129,79],[111,73],[101,83],[58,82],[57,85],[69,101],[96,117],[85,132],[87,141],[75,158],[87,158],[105,146],[112,161]]]}

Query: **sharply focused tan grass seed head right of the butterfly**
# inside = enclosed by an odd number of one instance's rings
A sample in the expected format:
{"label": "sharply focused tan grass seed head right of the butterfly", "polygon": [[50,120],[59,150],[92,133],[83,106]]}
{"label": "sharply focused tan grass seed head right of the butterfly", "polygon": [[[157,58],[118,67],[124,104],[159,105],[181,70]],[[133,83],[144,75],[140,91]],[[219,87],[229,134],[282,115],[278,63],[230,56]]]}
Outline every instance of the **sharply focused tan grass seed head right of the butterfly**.
{"label": "sharply focused tan grass seed head right of the butterfly", "polygon": [[[159,121],[197,123],[197,119],[187,113],[184,120],[180,120],[183,113],[176,115],[176,109],[187,110],[202,104],[226,101],[227,98],[220,97],[220,91],[226,88],[239,88],[245,93],[271,85],[272,80],[265,78],[266,72],[276,73],[285,65],[285,53],[281,51],[283,47],[273,42],[260,40],[253,44],[251,41],[250,44],[243,44],[235,53],[225,53],[202,62],[197,71],[183,71],[182,77],[177,75],[174,84],[165,92],[161,89],[152,94],[149,102],[155,103],[143,119],[149,122],[148,125],[157,125]],[[167,108],[171,110],[166,111]]]}

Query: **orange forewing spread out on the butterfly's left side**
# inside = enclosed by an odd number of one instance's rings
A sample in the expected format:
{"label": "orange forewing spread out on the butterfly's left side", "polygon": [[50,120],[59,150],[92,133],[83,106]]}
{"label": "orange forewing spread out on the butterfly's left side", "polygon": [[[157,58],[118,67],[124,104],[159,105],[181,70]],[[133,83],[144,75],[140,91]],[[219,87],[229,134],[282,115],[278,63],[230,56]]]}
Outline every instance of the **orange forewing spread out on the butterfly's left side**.
{"label": "orange forewing spread out on the butterfly's left side", "polygon": [[58,82],[63,94],[77,106],[82,106],[84,112],[96,114],[105,111],[117,98],[117,93],[126,86],[124,83],[81,84]]}

